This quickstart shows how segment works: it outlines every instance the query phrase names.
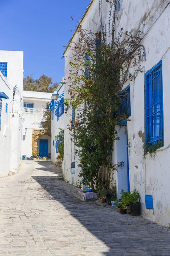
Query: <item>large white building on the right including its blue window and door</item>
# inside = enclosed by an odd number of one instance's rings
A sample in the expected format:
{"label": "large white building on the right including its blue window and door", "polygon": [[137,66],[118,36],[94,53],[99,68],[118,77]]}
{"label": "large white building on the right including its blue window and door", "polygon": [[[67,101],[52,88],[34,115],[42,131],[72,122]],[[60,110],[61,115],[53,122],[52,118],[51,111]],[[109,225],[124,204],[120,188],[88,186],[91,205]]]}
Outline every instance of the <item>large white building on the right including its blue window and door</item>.
{"label": "large white building on the right including its blue window and door", "polygon": [[[127,121],[124,127],[117,127],[120,140],[114,143],[113,163],[122,161],[125,163],[124,169],[115,173],[117,195],[120,196],[121,189],[127,191],[136,188],[141,196],[142,215],[160,224],[168,225],[170,223],[170,186],[168,183],[170,180],[170,87],[168,79],[170,73],[168,18],[170,3],[169,0],[118,0],[117,4],[119,9],[117,10],[115,34],[118,35],[122,27],[124,31],[133,34],[140,29],[141,45],[145,49],[142,72],[138,73],[138,76],[132,79],[133,81],[127,81],[123,88],[128,86],[130,88],[131,116],[130,122]],[[81,20],[82,27],[94,33],[101,29],[99,15],[96,15],[98,9],[99,0],[92,0]],[[102,19],[106,21],[106,24],[108,24],[108,9],[109,5],[103,1]],[[78,41],[78,39],[77,29],[71,41]],[[69,76],[71,41],[64,53],[65,78]],[[66,82],[68,82],[67,79]],[[153,84],[157,86],[152,87]],[[65,87],[65,97],[68,97],[67,91],[68,83]],[[149,109],[152,111],[150,112]],[[74,152],[66,128],[70,116],[65,118],[64,177],[70,183],[74,178],[74,185],[77,185],[79,170],[76,166],[75,174],[71,174]],[[149,154],[144,157],[148,137],[151,145],[154,141],[158,143],[163,141],[162,147],[157,150],[154,158],[151,158]]]}

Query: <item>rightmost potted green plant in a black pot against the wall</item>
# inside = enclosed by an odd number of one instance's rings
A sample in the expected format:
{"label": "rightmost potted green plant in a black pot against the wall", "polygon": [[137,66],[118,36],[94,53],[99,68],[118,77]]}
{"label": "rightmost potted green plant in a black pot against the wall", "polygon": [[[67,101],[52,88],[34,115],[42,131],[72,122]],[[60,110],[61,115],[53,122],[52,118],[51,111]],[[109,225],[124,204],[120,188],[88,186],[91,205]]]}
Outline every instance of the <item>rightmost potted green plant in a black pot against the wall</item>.
{"label": "rightmost potted green plant in a black pot against the wall", "polygon": [[140,199],[139,192],[136,189],[130,192],[130,215],[140,215]]}

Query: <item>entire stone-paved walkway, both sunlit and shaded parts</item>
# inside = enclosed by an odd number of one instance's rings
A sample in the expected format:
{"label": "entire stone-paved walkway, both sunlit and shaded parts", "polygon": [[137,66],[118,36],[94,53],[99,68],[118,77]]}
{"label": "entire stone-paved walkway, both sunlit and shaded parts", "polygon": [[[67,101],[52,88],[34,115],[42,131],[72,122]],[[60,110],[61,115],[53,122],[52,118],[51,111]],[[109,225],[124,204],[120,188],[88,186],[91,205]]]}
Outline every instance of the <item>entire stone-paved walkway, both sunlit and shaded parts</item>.
{"label": "entire stone-paved walkway, both sunlit and shaded parts", "polygon": [[0,256],[170,256],[170,231],[74,197],[49,161],[0,179]]}

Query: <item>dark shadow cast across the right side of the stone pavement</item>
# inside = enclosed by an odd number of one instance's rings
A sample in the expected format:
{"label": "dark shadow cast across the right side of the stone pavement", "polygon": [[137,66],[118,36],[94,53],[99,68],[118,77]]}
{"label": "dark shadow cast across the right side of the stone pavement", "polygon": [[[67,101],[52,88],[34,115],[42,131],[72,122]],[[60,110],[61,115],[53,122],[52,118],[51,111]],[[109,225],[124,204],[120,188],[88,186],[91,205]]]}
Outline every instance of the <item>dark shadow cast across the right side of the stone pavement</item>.
{"label": "dark shadow cast across the right side of the stone pavement", "polygon": [[[56,175],[61,172],[61,169],[53,165],[49,167],[49,163],[37,162],[44,167],[40,170]],[[79,201],[74,197],[77,189],[75,186],[59,180],[58,176],[54,177],[51,179],[51,176],[32,176],[53,200],[61,203],[82,226],[105,243],[108,247],[106,250],[109,251],[103,252],[102,255],[170,255],[170,233],[166,228],[153,225],[142,217],[121,215],[111,206]],[[93,253],[91,255],[93,256]]]}

